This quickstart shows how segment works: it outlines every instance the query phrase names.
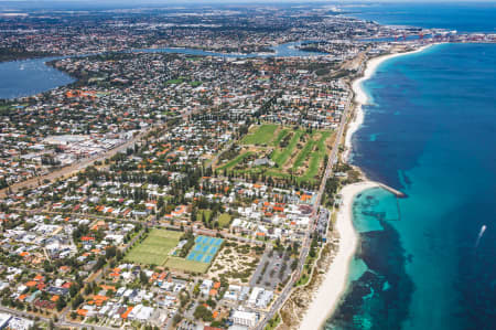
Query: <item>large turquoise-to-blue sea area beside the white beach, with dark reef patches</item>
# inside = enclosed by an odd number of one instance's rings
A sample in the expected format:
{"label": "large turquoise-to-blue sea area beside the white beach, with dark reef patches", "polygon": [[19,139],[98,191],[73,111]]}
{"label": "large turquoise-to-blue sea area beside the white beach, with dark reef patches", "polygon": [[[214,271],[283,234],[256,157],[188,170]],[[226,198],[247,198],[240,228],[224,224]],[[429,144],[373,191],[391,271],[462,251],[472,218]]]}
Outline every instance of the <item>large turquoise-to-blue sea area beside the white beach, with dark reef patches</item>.
{"label": "large turquoise-to-blue sea area beside the white beach, with dark reef patches", "polygon": [[355,200],[360,248],[327,328],[496,329],[496,45],[396,57],[364,87],[353,162],[408,198]]}

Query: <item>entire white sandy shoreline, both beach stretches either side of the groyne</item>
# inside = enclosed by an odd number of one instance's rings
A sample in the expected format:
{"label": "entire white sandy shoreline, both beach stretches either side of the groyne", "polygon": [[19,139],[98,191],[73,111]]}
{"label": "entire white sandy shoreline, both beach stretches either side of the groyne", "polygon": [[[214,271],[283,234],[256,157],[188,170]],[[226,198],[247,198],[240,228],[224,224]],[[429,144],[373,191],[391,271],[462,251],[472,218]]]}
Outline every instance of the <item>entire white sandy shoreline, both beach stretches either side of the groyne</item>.
{"label": "entire white sandy shoreline, both beach stretches either side of the groyne", "polygon": [[[365,117],[363,106],[369,102],[369,97],[363,89],[362,83],[369,79],[382,62],[398,56],[420,53],[432,45],[428,44],[410,52],[381,55],[367,61],[363,76],[352,83],[356,110],[346,130],[345,151],[343,152],[344,162],[349,161],[352,137],[363,125]],[[337,304],[346,290],[349,264],[358,245],[358,233],[353,225],[353,200],[357,194],[371,188],[387,189],[384,184],[370,181],[367,178],[365,178],[365,181],[348,184],[341,189],[339,193],[342,194],[343,201],[337,212],[335,224],[335,228],[339,234],[338,252],[328,267],[322,285],[314,294],[314,298],[310,302],[299,329],[322,329],[337,308]]]}

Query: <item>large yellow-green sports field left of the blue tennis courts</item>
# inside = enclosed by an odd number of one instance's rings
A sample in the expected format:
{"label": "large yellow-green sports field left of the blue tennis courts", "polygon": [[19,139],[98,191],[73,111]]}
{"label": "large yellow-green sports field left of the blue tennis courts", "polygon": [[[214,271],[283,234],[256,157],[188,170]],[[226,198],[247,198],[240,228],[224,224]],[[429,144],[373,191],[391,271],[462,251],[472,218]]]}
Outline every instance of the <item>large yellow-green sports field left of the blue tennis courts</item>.
{"label": "large yellow-green sports field left of the blue tennis courts", "polygon": [[134,264],[163,265],[182,235],[181,232],[152,230],[143,242],[126,255],[125,260]]}

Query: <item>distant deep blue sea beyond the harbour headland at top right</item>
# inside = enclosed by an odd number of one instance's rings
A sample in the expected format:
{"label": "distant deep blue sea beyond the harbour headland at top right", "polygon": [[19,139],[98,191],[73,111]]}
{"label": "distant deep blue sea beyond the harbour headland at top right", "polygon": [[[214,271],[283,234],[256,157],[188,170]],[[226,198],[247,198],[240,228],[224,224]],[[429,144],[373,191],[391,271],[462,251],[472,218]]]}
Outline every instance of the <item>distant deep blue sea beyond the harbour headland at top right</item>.
{"label": "distant deep blue sea beyond the harbour headland at top right", "polygon": [[[371,1],[370,1],[371,2]],[[376,21],[381,24],[440,28],[459,32],[496,31],[495,2],[436,2],[401,1],[396,3],[370,3],[343,8],[346,15]]]}

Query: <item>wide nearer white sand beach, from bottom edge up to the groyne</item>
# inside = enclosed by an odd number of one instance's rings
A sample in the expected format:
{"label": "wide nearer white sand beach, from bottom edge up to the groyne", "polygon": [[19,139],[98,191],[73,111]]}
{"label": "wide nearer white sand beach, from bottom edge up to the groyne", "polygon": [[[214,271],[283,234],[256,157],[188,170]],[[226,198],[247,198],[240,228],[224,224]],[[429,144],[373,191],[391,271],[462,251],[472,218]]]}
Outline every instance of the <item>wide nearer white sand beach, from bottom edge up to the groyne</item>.
{"label": "wide nearer white sand beach, from bottom edge up to the groyne", "polygon": [[358,243],[358,236],[352,223],[353,200],[356,194],[375,187],[378,187],[378,183],[366,181],[346,185],[341,191],[343,205],[337,213],[335,224],[335,230],[339,233],[338,251],[300,323],[301,330],[320,329],[334,312],[346,289],[349,262]]}

